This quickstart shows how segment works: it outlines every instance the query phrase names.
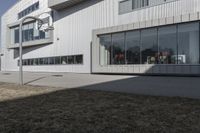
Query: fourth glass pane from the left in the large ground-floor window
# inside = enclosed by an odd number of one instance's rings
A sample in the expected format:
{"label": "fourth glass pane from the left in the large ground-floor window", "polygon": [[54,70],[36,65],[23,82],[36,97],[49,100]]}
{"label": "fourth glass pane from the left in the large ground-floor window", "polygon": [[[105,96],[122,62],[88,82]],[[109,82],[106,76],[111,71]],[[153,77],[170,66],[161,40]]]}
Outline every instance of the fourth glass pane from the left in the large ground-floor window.
{"label": "fourth glass pane from the left in the large ground-floor window", "polygon": [[142,64],[157,64],[158,43],[156,28],[141,31],[141,45]]}

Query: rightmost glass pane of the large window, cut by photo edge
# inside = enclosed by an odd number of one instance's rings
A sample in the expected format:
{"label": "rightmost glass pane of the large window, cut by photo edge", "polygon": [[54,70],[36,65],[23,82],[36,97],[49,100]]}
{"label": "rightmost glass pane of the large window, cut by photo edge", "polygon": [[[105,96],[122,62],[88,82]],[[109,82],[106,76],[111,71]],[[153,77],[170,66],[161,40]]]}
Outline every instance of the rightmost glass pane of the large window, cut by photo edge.
{"label": "rightmost glass pane of the large window, cut by photo edge", "polygon": [[199,64],[199,23],[178,25],[178,63]]}

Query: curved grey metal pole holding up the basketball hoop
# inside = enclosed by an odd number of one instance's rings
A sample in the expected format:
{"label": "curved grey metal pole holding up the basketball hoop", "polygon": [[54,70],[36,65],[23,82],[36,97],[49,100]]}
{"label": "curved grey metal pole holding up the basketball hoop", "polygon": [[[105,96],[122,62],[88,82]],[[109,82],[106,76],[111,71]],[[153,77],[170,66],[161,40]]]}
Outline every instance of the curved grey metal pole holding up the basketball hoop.
{"label": "curved grey metal pole holding up the basketball hoop", "polygon": [[23,56],[23,52],[22,52],[22,27],[23,27],[23,23],[27,20],[27,19],[33,19],[36,21],[40,21],[41,23],[43,23],[43,20],[37,18],[37,17],[33,17],[33,16],[27,16],[24,19],[22,19],[22,21],[20,22],[19,25],[19,82],[20,85],[24,85],[23,82],[23,63],[22,63],[22,56]]}

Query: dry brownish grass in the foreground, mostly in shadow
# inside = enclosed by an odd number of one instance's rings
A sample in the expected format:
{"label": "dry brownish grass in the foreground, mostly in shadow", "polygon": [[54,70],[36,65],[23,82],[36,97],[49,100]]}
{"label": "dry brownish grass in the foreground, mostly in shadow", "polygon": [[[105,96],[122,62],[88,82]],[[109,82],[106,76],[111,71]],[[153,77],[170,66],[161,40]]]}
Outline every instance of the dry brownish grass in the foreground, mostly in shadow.
{"label": "dry brownish grass in the foreground, mostly in shadow", "polygon": [[200,100],[0,83],[0,133],[199,133]]}

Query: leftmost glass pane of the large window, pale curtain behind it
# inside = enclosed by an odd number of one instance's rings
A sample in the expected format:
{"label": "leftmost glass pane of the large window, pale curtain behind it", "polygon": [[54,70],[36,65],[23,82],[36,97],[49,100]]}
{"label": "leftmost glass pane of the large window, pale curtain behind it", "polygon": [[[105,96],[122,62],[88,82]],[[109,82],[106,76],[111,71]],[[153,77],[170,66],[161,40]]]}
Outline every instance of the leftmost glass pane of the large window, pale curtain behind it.
{"label": "leftmost glass pane of the large window, pale curtain behind it", "polygon": [[111,35],[99,36],[100,39],[100,65],[110,65],[112,60]]}

